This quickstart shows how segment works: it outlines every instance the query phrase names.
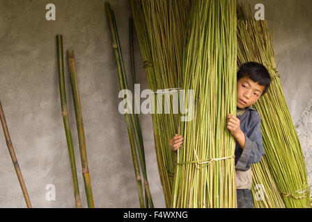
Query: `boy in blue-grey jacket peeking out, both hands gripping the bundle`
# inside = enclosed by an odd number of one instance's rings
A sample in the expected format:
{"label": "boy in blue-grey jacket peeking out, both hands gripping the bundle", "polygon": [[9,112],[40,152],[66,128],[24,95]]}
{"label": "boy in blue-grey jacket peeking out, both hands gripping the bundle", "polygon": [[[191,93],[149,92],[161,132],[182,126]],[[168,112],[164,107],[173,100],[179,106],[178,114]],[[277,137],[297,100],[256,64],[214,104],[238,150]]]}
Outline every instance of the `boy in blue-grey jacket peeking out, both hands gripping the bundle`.
{"label": "boy in blue-grey jacket peeking out, both hands gripping the bundle", "polygon": [[[228,114],[226,127],[236,139],[235,174],[237,208],[252,208],[251,164],[256,164],[264,155],[260,115],[251,108],[260,96],[269,89],[271,77],[267,69],[257,62],[247,62],[237,71],[237,117]],[[170,139],[173,151],[178,151],[183,142],[181,135]]]}

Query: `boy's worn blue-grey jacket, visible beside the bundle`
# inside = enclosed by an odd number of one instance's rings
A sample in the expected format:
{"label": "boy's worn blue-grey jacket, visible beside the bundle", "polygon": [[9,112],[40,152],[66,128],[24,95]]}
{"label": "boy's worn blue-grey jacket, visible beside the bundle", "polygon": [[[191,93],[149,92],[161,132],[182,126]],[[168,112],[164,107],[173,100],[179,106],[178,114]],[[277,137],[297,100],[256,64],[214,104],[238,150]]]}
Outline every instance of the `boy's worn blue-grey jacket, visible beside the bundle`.
{"label": "boy's worn blue-grey jacket, visible beside the bundle", "polygon": [[251,164],[256,164],[265,154],[262,144],[261,119],[258,112],[249,107],[246,111],[237,116],[240,119],[240,129],[245,135],[244,149],[236,142],[235,146],[235,169],[247,171]]}

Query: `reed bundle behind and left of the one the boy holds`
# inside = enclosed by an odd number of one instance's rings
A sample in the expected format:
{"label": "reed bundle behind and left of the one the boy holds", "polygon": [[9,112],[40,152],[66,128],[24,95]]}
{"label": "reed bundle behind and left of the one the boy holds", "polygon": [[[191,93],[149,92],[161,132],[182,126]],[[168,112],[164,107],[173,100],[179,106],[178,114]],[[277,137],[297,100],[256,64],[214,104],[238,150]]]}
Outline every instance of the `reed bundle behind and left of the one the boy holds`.
{"label": "reed bundle behind and left of the one the boy holds", "polygon": [[[174,92],[171,89],[182,87],[182,56],[189,4],[189,0],[131,1],[148,85],[155,92],[151,95],[157,104],[152,108],[155,150],[166,207],[171,207],[176,166],[176,153],[171,151],[169,139],[178,133],[180,123],[180,114],[173,112],[175,104],[169,93]],[[168,92],[157,92],[159,89],[168,89]],[[170,99],[162,101],[166,96]],[[159,105],[163,109],[157,111]],[[170,108],[167,114],[164,114],[165,106]]]}

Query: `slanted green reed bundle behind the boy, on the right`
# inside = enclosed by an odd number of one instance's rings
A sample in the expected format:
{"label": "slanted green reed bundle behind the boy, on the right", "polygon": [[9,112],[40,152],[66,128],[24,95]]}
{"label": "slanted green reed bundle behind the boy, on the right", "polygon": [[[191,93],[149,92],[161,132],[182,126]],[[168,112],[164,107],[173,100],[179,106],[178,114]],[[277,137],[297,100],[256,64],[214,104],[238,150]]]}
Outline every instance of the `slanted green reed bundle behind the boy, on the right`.
{"label": "slanted green reed bundle behind the boy, on the right", "polygon": [[304,155],[283,95],[267,22],[247,17],[242,6],[239,6],[238,14],[238,65],[248,61],[259,62],[267,67],[272,76],[267,94],[254,105],[262,119],[263,159],[281,191],[286,207],[311,207]]}

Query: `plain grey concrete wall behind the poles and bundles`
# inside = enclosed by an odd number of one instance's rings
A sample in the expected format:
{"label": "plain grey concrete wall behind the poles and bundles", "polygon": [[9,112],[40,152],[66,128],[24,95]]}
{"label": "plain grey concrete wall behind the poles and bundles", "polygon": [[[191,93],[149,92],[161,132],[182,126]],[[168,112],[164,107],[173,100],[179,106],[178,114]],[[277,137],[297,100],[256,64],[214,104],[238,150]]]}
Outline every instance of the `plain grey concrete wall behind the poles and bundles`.
{"label": "plain grey concrete wall behind the poles and bundles", "polygon": [[[130,3],[110,2],[129,70]],[[280,61],[278,68],[292,118],[295,123],[303,115],[311,119],[311,109],[306,108],[312,96],[311,1],[261,2],[270,26],[275,24],[276,60]],[[45,19],[47,3],[55,4],[56,21]],[[57,33],[63,35],[64,51],[75,50],[95,207],[139,207],[125,119],[118,112],[119,86],[104,1],[0,0],[0,99],[33,207],[75,207],[59,99]],[[135,49],[141,89],[147,89],[137,42]],[[65,71],[67,74],[67,67]],[[65,80],[79,188],[86,207],[68,75]],[[150,116],[141,115],[141,122],[150,189],[155,207],[164,207]],[[301,137],[308,154],[310,135]],[[25,207],[3,136],[0,162],[0,207]],[[307,162],[311,166],[309,155]],[[45,198],[48,184],[56,187],[55,201]]]}

